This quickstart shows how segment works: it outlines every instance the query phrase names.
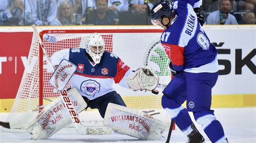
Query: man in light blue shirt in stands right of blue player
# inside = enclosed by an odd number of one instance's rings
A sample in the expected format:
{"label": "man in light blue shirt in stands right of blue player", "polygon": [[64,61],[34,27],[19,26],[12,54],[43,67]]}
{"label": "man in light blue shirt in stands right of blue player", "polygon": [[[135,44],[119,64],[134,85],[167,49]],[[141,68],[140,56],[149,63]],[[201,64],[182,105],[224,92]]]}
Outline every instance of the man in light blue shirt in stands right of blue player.
{"label": "man in light blue shirt in stands right of blue player", "polygon": [[231,3],[231,0],[221,0],[219,3],[219,10],[208,15],[206,24],[238,24],[234,15],[229,13],[232,8]]}

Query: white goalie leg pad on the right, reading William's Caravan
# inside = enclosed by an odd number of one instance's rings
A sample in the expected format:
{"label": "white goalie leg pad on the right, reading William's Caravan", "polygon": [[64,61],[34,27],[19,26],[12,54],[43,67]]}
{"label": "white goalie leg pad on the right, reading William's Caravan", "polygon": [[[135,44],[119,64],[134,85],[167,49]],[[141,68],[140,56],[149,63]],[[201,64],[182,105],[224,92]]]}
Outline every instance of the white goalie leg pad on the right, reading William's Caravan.
{"label": "white goalie leg pad on the right, reading William's Caravan", "polygon": [[113,103],[108,103],[103,124],[119,134],[143,140],[161,139],[167,127],[166,122],[142,111]]}

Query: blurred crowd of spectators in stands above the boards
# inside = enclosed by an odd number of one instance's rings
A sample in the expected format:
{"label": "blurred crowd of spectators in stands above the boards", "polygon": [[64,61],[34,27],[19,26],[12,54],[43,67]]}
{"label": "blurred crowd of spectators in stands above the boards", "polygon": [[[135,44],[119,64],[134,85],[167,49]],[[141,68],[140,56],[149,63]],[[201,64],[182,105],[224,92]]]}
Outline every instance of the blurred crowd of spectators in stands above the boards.
{"label": "blurred crowd of spectators in stands above the boards", "polygon": [[[157,0],[0,0],[0,26],[151,25]],[[172,2],[172,0],[170,0]],[[256,24],[256,0],[203,0],[206,24]]]}

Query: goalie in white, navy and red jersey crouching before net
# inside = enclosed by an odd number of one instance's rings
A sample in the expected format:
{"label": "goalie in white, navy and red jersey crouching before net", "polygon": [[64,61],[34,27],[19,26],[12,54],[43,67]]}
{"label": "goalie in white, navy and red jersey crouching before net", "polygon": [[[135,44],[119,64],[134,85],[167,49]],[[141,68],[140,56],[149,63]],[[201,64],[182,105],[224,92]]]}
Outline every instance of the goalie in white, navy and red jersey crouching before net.
{"label": "goalie in white, navy and red jersey crouching before net", "polygon": [[[72,88],[67,91],[67,95],[74,105],[75,114],[88,107],[98,109],[104,118],[104,125],[119,134],[145,140],[161,139],[167,124],[142,111],[126,107],[113,87],[116,83],[135,91],[151,91],[158,85],[158,76],[150,67],[142,66],[132,71],[117,55],[104,51],[104,48],[102,36],[94,33],[87,38],[85,48],[68,48],[55,52],[50,60],[56,70],[49,83],[56,92],[62,94],[70,82]],[[55,99],[24,128],[33,139],[51,137],[72,123],[72,118],[69,118],[72,114],[68,113],[70,111],[67,108],[61,98]],[[113,118],[119,120],[118,124],[113,122]],[[124,118],[126,122],[122,120]],[[89,128],[85,129],[85,134],[88,135]],[[106,135],[109,130],[103,132]]]}

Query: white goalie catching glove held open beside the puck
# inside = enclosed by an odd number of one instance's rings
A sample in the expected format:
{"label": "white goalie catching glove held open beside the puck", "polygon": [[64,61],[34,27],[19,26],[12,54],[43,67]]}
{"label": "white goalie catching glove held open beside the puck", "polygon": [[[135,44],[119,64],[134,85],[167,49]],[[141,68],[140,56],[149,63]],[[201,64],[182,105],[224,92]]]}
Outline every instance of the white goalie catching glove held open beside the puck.
{"label": "white goalie catching glove held open beside the puck", "polygon": [[150,67],[141,66],[134,74],[125,78],[132,90],[153,90],[159,83],[159,78]]}

